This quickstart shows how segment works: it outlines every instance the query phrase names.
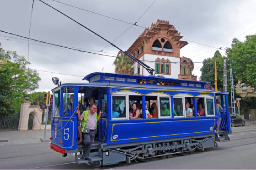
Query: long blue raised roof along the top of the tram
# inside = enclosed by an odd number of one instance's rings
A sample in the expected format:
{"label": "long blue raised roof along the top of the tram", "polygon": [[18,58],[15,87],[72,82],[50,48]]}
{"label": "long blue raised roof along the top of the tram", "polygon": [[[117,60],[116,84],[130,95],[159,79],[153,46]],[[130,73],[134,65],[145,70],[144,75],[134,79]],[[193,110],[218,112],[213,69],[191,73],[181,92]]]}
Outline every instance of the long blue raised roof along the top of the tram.
{"label": "long blue raised roof along the top of the tram", "polygon": [[[95,86],[95,87],[124,87],[162,90],[204,91],[209,93],[226,92],[207,90],[204,88],[208,82],[170,79],[165,77],[143,75],[120,75],[113,73],[91,73],[83,78],[89,83],[65,83],[61,86]],[[58,88],[58,87],[56,87]],[[54,89],[56,89],[54,88]],[[53,90],[54,90],[53,89]]]}

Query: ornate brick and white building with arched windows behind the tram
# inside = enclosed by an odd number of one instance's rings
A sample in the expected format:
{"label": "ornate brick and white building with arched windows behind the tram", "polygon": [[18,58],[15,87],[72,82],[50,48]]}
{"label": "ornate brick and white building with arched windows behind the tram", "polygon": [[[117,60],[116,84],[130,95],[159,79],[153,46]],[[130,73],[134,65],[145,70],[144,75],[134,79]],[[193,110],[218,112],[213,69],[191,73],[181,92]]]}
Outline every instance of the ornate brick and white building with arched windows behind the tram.
{"label": "ornate brick and white building with arched windows behind the tram", "polygon": [[[188,44],[181,40],[181,33],[169,21],[157,20],[150,28],[146,28],[127,50],[151,68],[155,75],[182,80],[197,80],[192,75],[194,64],[191,59],[180,58],[180,49]],[[119,51],[118,55],[122,52]],[[133,74],[149,75],[135,61],[132,62]]]}

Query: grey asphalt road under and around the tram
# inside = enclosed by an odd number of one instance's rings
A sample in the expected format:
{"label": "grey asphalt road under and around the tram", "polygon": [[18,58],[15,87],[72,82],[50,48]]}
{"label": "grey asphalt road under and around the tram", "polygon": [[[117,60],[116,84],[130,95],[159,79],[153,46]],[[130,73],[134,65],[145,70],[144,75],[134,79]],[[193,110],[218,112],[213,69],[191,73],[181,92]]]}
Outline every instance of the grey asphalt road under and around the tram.
{"label": "grey asphalt road under and around the tram", "polygon": [[62,157],[48,142],[0,146],[0,169],[256,169],[256,124],[233,128],[230,142],[190,155],[172,155],[149,162],[100,168],[77,164],[74,155]]}

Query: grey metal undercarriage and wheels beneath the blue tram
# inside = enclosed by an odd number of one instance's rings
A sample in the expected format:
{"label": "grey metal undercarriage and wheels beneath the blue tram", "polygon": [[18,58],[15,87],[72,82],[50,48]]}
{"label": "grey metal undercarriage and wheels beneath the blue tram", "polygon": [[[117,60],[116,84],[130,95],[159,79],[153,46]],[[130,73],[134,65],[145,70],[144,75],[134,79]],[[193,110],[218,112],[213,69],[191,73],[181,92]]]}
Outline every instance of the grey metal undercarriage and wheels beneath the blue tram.
{"label": "grey metal undercarriage and wheels beneath the blue tram", "polygon": [[189,139],[172,139],[171,141],[148,141],[147,143],[137,143],[137,145],[105,145],[104,143],[95,142],[91,148],[91,161],[84,160],[83,145],[78,148],[75,154],[76,161],[93,166],[112,165],[126,161],[131,163],[132,160],[147,161],[150,158],[166,158],[168,155],[187,155],[195,150],[203,151],[205,148],[218,147],[215,142],[216,136],[197,136]]}

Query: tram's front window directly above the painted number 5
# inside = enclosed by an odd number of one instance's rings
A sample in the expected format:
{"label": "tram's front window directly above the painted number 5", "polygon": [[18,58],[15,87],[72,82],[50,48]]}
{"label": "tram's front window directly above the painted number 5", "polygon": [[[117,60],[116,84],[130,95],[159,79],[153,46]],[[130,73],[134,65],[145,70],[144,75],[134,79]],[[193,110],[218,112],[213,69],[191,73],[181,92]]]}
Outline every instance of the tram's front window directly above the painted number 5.
{"label": "tram's front window directly above the painted number 5", "polygon": [[71,116],[74,113],[74,87],[63,88],[63,115]]}

